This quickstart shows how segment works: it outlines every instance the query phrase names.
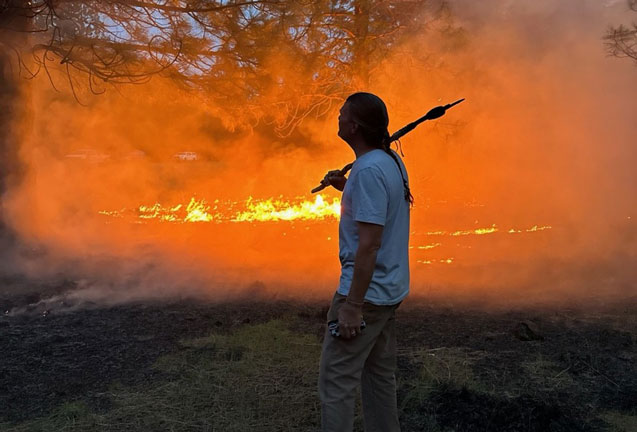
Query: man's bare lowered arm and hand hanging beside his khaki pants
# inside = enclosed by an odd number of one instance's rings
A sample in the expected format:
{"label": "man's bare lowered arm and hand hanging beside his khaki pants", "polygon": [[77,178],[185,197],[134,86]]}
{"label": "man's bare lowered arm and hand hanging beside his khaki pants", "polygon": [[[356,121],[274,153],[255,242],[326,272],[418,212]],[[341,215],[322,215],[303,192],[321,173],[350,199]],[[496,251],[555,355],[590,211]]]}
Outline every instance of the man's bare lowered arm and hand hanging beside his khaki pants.
{"label": "man's bare lowered arm and hand hanging beside his khaki pants", "polygon": [[358,249],[354,258],[354,276],[347,301],[338,312],[341,336],[345,339],[360,333],[363,301],[376,267],[376,254],[380,249],[383,226],[356,222],[358,227]]}

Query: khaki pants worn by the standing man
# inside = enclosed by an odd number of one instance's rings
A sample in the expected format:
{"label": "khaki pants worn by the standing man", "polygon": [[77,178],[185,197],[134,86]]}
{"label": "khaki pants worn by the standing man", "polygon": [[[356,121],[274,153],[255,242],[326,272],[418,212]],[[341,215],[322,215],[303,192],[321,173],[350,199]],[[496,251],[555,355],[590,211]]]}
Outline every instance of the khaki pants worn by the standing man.
{"label": "khaki pants worn by the standing man", "polygon": [[[327,321],[338,318],[345,296],[334,295]],[[324,432],[351,432],[356,388],[361,384],[366,432],[400,431],[396,407],[396,331],[398,305],[365,303],[367,327],[353,339],[325,332],[319,370],[321,426]]]}

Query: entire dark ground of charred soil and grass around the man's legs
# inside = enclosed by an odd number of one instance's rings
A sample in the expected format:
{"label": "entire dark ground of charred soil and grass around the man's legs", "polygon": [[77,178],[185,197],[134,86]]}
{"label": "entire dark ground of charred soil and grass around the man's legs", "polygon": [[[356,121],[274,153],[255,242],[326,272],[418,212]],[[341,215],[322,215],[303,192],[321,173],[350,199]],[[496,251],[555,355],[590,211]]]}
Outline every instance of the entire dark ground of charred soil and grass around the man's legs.
{"label": "entire dark ground of charred soil and grass around the man's legs", "polygon": [[[3,430],[318,427],[324,304],[74,309],[6,290],[0,300]],[[397,320],[403,429],[635,430],[635,306],[484,311],[407,301]],[[543,339],[516,338],[523,321]],[[277,409],[290,404],[293,413]]]}

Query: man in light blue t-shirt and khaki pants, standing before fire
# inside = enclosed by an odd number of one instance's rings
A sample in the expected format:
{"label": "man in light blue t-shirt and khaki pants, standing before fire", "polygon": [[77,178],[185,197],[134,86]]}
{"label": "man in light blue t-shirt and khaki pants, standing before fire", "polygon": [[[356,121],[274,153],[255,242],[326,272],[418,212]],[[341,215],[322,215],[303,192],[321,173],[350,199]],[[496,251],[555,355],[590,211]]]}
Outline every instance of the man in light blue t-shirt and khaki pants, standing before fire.
{"label": "man in light blue t-shirt and khaki pants, standing before fire", "polygon": [[[394,314],[409,292],[407,171],[390,148],[383,101],[347,98],[338,135],[356,154],[349,178],[330,171],[324,183],[343,191],[339,224],[341,277],[327,320],[319,372],[323,431],[349,432],[356,388],[362,387],[365,431],[399,431]],[[361,329],[361,321],[366,327]]]}

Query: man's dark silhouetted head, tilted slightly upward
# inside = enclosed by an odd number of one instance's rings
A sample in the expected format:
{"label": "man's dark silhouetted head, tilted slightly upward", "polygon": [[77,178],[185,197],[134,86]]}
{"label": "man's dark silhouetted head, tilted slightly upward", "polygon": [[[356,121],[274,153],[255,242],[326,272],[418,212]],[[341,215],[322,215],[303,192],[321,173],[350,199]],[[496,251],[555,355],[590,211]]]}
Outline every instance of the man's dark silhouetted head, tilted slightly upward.
{"label": "man's dark silhouetted head, tilted slightly upward", "polygon": [[368,146],[383,148],[388,143],[389,116],[385,103],[371,93],[350,95],[338,117],[338,136],[348,143],[362,138]]}

